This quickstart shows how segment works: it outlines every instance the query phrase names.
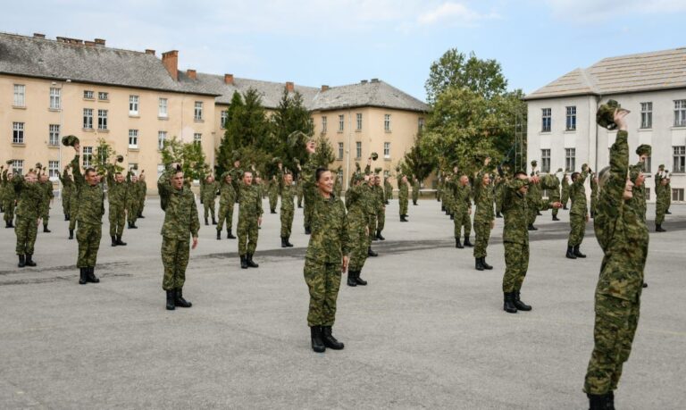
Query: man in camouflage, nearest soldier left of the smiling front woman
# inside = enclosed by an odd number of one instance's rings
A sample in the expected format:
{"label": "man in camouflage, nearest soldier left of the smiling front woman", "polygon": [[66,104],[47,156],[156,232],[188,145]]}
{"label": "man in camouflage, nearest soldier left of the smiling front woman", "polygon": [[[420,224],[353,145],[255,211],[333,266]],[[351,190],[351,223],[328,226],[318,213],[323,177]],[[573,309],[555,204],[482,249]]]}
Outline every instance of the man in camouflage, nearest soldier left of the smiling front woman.
{"label": "man in camouflage, nearest soldier left of the smiling front woman", "polygon": [[[172,164],[171,171],[164,172],[157,180],[157,190],[164,200],[164,223],[162,225],[162,264],[164,277],[162,289],[167,294],[167,310],[190,307],[193,304],[183,297],[188,266],[188,247],[197,247],[198,221],[196,199],[193,192],[184,186],[183,172],[178,164]],[[190,245],[188,237],[193,238]]]}

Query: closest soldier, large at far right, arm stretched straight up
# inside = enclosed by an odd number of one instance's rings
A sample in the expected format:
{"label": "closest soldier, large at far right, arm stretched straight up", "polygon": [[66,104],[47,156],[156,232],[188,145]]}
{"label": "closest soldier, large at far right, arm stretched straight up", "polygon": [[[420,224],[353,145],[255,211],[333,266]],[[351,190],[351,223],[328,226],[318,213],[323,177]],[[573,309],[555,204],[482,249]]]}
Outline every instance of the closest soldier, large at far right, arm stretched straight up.
{"label": "closest soldier, large at far right, arm stretched straight up", "polygon": [[591,409],[615,408],[614,390],[629,359],[640,313],[648,228],[633,206],[625,111],[615,111],[619,131],[610,166],[601,172],[594,229],[605,254],[595,295],[594,348],[583,390]]}

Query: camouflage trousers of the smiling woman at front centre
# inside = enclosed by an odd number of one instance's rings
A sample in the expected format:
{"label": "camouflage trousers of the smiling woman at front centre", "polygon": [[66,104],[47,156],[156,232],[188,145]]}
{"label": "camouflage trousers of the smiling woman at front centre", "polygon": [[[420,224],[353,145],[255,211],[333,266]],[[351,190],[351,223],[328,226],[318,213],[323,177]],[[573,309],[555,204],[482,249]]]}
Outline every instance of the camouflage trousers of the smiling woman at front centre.
{"label": "camouflage trousers of the smiling woman at front centre", "polygon": [[307,325],[333,326],[340,289],[340,264],[324,264],[305,259],[305,283],[310,290]]}

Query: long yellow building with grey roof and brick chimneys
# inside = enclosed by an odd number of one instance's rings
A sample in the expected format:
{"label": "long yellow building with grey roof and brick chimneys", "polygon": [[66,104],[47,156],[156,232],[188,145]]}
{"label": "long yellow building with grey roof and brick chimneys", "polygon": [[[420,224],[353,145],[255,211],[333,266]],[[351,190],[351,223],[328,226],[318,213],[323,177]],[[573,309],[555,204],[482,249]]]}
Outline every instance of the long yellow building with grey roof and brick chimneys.
{"label": "long yellow building with grey roof and brick chimneys", "polygon": [[17,172],[43,163],[56,177],[74,155],[62,146],[63,135],[79,137],[85,164],[92,162],[97,139],[105,138],[125,165],[137,164],[154,177],[147,184],[155,189],[165,138],[202,144],[213,164],[234,91],[255,88],[273,110],[285,88],[304,97],[315,132],[330,138],[338,154],[334,166],[349,175],[356,161],[364,166],[375,151],[380,160],[374,166],[391,171],[428,109],[378,79],[312,88],[180,71],[178,61],[178,51],[160,58],[155,50],[107,47],[103,39],[0,33],[0,161],[13,159]]}

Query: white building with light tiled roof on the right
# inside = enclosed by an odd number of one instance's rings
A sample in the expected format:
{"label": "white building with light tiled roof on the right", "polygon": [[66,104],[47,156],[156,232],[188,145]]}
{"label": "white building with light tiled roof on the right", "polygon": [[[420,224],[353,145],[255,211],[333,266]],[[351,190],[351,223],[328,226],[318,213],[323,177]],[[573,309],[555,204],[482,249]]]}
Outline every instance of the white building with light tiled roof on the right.
{"label": "white building with light tiled roof on the right", "polygon": [[652,146],[648,200],[655,201],[652,172],[660,164],[673,173],[672,199],[686,188],[686,47],[601,60],[576,69],[525,97],[528,102],[527,156],[540,172],[595,170],[609,164],[616,131],[596,124],[598,106],[614,99],[629,114],[630,162],[635,149]]}

